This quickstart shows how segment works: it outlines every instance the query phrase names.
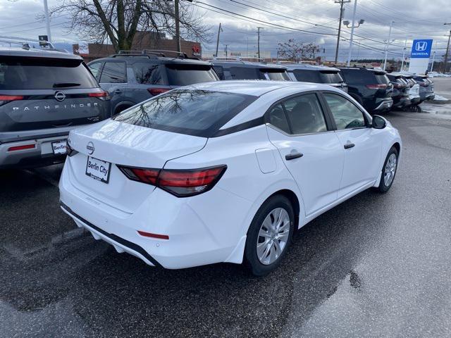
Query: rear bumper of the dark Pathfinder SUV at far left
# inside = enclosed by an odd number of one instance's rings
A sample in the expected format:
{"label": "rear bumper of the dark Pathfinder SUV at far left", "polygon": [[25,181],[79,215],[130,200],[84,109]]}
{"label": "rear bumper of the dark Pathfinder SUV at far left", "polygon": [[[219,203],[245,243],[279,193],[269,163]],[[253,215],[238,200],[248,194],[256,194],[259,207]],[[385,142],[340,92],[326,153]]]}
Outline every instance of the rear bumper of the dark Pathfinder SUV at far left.
{"label": "rear bumper of the dark Pathfinder SUV at far left", "polygon": [[[41,165],[61,163],[66,154],[54,154],[52,142],[67,139],[67,133],[61,136],[25,139],[0,144],[0,168],[32,168]],[[13,147],[32,146],[30,149],[11,150]]]}

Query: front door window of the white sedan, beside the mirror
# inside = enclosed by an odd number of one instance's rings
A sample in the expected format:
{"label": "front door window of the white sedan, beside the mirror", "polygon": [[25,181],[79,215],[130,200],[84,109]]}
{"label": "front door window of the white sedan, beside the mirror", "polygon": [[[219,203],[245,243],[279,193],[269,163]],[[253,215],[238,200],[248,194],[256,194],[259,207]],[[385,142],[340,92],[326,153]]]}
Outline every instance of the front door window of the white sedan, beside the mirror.
{"label": "front door window of the white sedan, beside the mirror", "polygon": [[332,112],[338,130],[365,127],[362,111],[351,101],[337,94],[323,94]]}

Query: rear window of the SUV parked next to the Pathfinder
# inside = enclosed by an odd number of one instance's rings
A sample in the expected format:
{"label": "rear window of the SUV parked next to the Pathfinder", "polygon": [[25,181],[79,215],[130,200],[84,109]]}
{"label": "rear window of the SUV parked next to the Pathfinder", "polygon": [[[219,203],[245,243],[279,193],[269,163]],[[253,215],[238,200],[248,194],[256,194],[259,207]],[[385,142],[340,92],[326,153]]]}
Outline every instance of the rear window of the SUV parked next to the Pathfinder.
{"label": "rear window of the SUV parked next to the Pathfinder", "polygon": [[171,86],[186,86],[199,82],[217,81],[211,65],[166,65],[166,74]]}

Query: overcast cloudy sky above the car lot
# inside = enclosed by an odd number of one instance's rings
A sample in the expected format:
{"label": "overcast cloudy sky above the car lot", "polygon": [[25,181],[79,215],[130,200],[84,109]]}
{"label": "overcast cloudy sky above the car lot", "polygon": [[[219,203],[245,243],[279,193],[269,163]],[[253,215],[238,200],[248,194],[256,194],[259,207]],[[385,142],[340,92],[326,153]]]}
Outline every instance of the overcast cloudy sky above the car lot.
{"label": "overcast cloudy sky above the car lot", "polygon": [[[49,6],[58,4],[58,0],[48,1]],[[263,27],[260,48],[262,51],[271,51],[273,56],[276,56],[278,42],[290,38],[299,42],[316,42],[326,50],[326,54],[321,53],[321,56],[327,59],[335,55],[340,5],[335,4],[334,0],[199,0],[190,6],[211,26],[211,41],[202,46],[203,51],[216,48],[218,23],[222,23],[220,49],[224,49],[225,44],[228,44],[229,51],[257,49],[257,27]],[[353,6],[354,0],[345,4],[345,20],[352,19]],[[46,34],[44,23],[36,20],[36,15],[42,11],[42,0],[0,0],[0,35],[37,39],[37,35]],[[451,25],[443,25],[451,23],[450,0],[358,0],[356,19],[364,19],[365,23],[354,31],[354,39],[361,45],[354,46],[353,58],[357,55],[360,58],[383,58],[384,40],[388,39],[391,21],[395,23],[389,58],[401,57],[406,38],[408,48],[414,38],[433,39],[433,50],[439,58],[445,54],[445,35],[451,29]],[[67,20],[61,15],[51,20],[54,42],[71,44],[80,41],[77,36],[67,33]],[[350,29],[345,27],[342,37],[349,39]],[[347,57],[348,46],[349,42],[340,42],[339,58],[342,61]]]}

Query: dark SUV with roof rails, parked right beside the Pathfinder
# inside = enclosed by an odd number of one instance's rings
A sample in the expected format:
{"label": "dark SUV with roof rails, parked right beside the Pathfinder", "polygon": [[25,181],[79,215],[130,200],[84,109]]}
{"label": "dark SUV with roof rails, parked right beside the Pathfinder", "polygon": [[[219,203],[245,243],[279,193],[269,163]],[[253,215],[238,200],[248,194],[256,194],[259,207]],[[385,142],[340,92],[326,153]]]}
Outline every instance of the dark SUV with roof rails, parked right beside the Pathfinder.
{"label": "dark SUV with roof rails, parked right beside the Pathfinder", "polygon": [[217,81],[211,63],[175,51],[121,51],[88,63],[100,86],[111,95],[111,113],[135,106],[175,87]]}

